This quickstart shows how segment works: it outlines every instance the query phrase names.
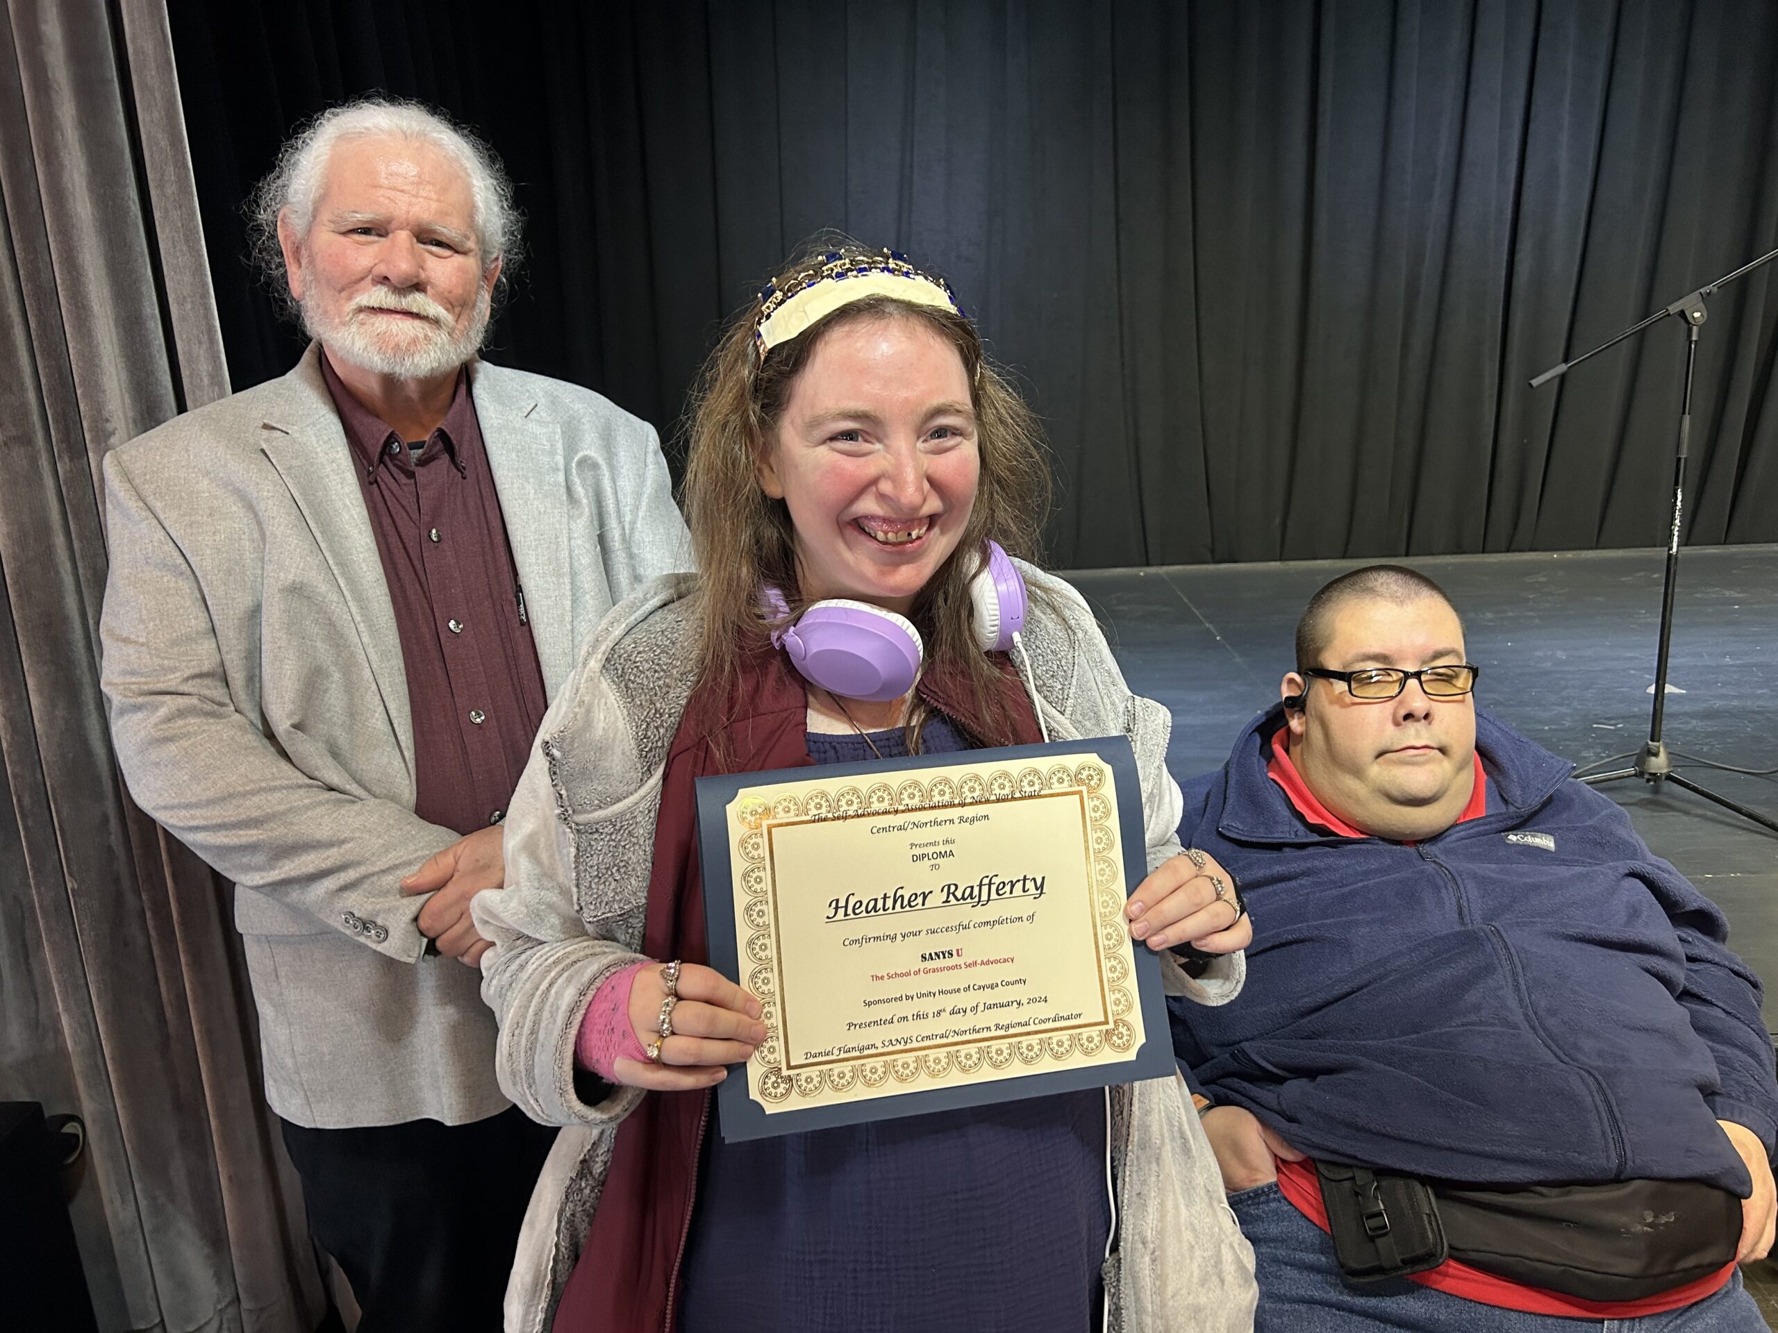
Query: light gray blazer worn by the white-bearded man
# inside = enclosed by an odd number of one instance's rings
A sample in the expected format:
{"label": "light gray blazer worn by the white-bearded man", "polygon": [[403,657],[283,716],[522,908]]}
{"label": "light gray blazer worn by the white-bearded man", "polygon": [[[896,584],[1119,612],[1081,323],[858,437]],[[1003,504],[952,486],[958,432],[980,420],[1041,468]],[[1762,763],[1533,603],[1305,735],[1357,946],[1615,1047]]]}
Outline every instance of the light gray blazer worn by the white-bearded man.
{"label": "light gray blazer worn by the white-bearded man", "polygon": [[[402,643],[320,348],[105,459],[100,622],[130,794],[235,882],[265,1093],[336,1129],[505,1109],[480,976],[423,956],[398,882],[457,834],[414,816]],[[690,567],[654,430],[471,363],[544,690],[651,576]]]}

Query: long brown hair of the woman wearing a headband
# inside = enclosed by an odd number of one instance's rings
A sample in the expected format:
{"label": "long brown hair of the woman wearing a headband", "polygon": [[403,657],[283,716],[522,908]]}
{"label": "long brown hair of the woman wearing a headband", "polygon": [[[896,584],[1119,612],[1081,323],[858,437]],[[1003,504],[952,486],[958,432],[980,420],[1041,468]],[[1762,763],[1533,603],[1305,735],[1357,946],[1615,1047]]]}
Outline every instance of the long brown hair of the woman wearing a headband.
{"label": "long brown hair of the woman wearing a headband", "polygon": [[[773,279],[779,288],[832,258],[873,254],[843,238],[818,238]],[[761,357],[754,338],[761,302],[750,302],[704,363],[690,414],[690,455],[685,475],[685,515],[697,555],[699,675],[727,695],[741,658],[768,635],[759,590],[775,585],[791,615],[804,610],[797,579],[795,528],[782,499],[759,487],[757,464],[775,446],[779,419],[791,387],[814,348],[834,329],[857,320],[916,320],[935,331],[964,363],[976,448],[981,459],[974,508],[949,560],[914,599],[909,619],[926,643],[926,670],[962,675],[973,686],[978,716],[1012,734],[999,672],[976,645],[969,576],[974,553],[987,540],[1008,555],[1037,558],[1038,530],[1049,514],[1051,482],[1037,416],[989,361],[976,327],[949,309],[893,297],[866,297],[841,306],[805,332]],[[910,711],[910,743],[917,745],[917,713]]]}

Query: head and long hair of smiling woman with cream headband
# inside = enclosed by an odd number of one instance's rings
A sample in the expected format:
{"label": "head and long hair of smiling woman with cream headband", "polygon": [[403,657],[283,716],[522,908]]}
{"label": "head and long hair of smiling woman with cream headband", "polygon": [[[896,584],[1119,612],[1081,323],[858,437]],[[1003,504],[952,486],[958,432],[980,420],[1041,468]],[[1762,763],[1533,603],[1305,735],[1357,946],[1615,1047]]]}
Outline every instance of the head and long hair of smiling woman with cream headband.
{"label": "head and long hair of smiling woman with cream headband", "polygon": [[[885,272],[823,279],[855,265]],[[782,590],[784,620],[823,597],[877,603],[907,615],[928,670],[965,682],[1008,734],[969,583],[985,540],[1033,558],[1049,503],[1037,418],[949,288],[894,256],[820,242],[765,286],[756,320],[727,331],[695,395],[685,505],[706,571],[704,674],[734,679],[761,587]],[[905,720],[917,743],[923,711]]]}

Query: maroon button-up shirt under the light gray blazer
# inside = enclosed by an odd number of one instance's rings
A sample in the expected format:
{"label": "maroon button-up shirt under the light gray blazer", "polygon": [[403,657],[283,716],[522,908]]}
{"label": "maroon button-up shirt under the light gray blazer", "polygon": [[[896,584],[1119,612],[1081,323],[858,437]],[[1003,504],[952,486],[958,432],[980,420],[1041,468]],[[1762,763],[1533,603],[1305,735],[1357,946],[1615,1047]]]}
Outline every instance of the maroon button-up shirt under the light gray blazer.
{"label": "maroon button-up shirt under the light gray blazer", "polygon": [[322,355],[357,460],[395,606],[414,723],[414,814],[459,834],[498,825],[544,720],[542,666],[469,375],[437,430],[407,444]]}

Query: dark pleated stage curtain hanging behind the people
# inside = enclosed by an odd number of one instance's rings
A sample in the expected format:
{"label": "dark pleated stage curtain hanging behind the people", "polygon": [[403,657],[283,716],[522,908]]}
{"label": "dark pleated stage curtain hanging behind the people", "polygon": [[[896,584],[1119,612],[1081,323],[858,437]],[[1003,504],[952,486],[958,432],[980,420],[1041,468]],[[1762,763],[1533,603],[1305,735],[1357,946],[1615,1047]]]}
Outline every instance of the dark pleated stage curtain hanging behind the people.
{"label": "dark pleated stage curtain hanging behind the people", "polygon": [[[491,355],[663,428],[843,227],[946,272],[1047,419],[1060,565],[1648,546],[1684,329],[1778,245],[1769,0],[171,0],[236,387],[297,354],[238,203],[370,89],[478,126],[530,261]],[[1778,265],[1710,302],[1687,540],[1778,539]]]}

